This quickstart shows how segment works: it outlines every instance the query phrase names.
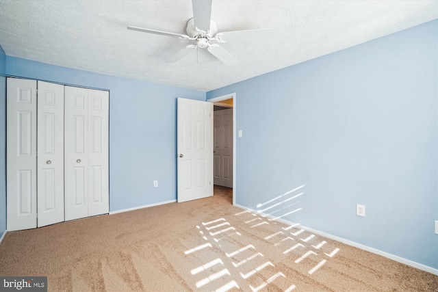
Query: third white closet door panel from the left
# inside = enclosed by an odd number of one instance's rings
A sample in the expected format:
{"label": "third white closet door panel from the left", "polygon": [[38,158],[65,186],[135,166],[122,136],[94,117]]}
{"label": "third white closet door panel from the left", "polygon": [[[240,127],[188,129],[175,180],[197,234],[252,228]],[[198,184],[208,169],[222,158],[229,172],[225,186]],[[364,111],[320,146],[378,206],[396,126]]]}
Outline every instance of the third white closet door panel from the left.
{"label": "third white closet door panel from the left", "polygon": [[65,220],[88,216],[88,90],[65,87]]}

